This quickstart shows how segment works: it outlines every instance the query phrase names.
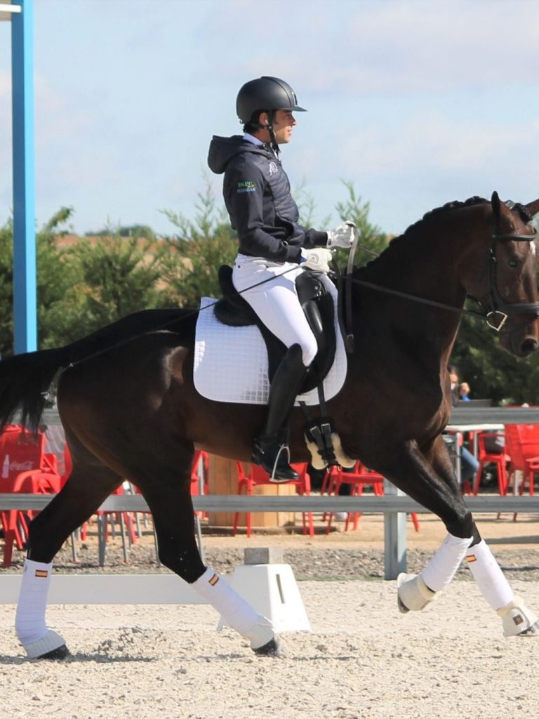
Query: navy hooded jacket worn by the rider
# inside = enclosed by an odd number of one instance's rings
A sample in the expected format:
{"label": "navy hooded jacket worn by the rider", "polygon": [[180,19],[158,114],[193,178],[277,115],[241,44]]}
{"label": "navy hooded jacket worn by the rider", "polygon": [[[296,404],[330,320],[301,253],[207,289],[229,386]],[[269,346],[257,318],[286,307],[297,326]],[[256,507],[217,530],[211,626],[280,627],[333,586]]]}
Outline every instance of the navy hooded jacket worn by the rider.
{"label": "navy hooded jacket worn by the rider", "polygon": [[300,262],[302,247],[326,246],[326,232],[298,224],[290,182],[269,145],[254,145],[239,135],[213,137],[208,165],[224,173],[224,201],[243,255]]}

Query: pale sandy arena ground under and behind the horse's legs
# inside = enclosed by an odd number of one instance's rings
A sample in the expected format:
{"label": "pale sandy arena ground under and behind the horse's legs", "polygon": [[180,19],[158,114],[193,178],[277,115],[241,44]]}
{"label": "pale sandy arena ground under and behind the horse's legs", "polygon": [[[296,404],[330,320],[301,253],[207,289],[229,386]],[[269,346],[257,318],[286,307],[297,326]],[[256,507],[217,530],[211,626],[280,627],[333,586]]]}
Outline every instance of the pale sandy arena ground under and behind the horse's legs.
{"label": "pale sandy arena ground under and behind the horse's legs", "polygon": [[[513,562],[515,591],[536,611],[538,519],[479,519],[494,553]],[[425,560],[445,531],[426,515],[420,517],[419,533],[409,524],[409,557]],[[361,557],[383,565],[382,517],[362,517],[356,532],[339,529],[326,536],[322,530],[318,523],[313,539],[299,533],[257,532],[247,539],[231,537],[227,530],[204,531],[208,557],[241,559],[245,546],[280,546],[285,556],[304,558],[295,567],[296,577],[310,569],[323,578],[328,567],[335,576],[341,574],[334,566],[339,556],[356,557],[349,571],[360,579],[349,574],[346,581],[298,581],[312,631],[282,635],[280,658],[255,656],[233,631],[217,632],[218,616],[206,605],[54,605],[48,624],[65,636],[72,656],[63,662],[29,661],[14,636],[14,607],[0,605],[4,714],[42,719],[537,719],[539,637],[503,638],[499,618],[464,576],[431,609],[402,615],[395,582],[359,571]],[[95,538],[87,546],[79,551],[87,554],[82,562],[91,565],[90,571],[103,571],[96,568]],[[147,558],[145,566],[137,554]],[[63,557],[59,564],[68,567],[69,547]],[[147,533],[132,550],[130,561],[137,566],[130,569],[116,537],[109,541],[104,571],[162,571],[152,557]]]}

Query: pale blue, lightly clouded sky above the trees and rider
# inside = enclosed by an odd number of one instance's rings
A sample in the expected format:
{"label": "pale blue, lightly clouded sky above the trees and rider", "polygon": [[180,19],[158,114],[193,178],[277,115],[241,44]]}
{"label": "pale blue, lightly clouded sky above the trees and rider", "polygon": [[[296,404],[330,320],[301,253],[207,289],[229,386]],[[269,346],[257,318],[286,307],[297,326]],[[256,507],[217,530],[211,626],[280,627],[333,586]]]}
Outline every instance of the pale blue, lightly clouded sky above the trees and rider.
{"label": "pale blue, lightly clouded sky above the trees and rider", "polygon": [[[193,217],[236,93],[277,75],[308,113],[282,162],[316,216],[342,180],[385,232],[472,195],[539,197],[535,0],[34,0],[37,224]],[[0,23],[0,223],[11,212],[9,23]],[[221,179],[211,183],[220,196]],[[323,227],[321,227],[323,229]]]}

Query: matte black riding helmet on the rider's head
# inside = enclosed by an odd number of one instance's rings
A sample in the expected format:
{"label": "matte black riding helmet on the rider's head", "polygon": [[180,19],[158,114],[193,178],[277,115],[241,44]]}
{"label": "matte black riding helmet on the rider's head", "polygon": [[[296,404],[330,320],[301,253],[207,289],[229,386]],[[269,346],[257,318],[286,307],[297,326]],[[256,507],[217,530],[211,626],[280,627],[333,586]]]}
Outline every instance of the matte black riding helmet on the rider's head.
{"label": "matte black riding helmet on the rider's head", "polygon": [[[295,92],[288,83],[279,78],[264,76],[245,83],[236,98],[236,113],[244,124],[256,124],[255,113],[275,110],[306,112],[298,106]],[[254,121],[254,122],[253,122]]]}

